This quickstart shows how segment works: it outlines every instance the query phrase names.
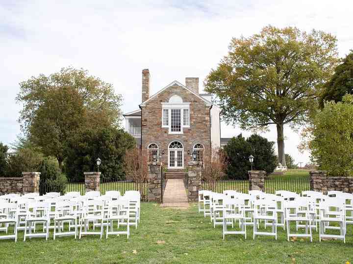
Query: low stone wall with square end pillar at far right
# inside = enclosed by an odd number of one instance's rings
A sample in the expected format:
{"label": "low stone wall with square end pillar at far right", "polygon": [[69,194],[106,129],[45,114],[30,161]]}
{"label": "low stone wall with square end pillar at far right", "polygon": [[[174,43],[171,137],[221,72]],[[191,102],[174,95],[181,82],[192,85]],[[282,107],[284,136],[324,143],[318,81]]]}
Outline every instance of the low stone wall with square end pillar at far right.
{"label": "low stone wall with square end pillar at far right", "polygon": [[311,171],[310,190],[327,194],[328,191],[353,193],[353,177],[331,177],[326,171]]}

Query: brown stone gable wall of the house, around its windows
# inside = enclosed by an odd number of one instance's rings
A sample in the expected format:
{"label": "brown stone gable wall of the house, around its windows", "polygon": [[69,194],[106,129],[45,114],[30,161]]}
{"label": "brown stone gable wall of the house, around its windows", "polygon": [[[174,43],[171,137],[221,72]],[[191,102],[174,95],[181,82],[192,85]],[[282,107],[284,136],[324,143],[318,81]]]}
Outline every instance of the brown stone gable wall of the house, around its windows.
{"label": "brown stone gable wall of the house, around its windows", "polygon": [[[180,96],[183,102],[190,103],[190,128],[183,128],[182,134],[169,134],[168,128],[162,128],[162,102],[168,102],[174,94]],[[151,97],[141,105],[142,148],[147,149],[151,143],[158,145],[164,155],[161,160],[168,164],[168,147],[172,141],[179,141],[184,149],[184,168],[190,161],[188,150],[192,151],[196,143],[204,147],[210,146],[210,106],[195,94],[180,86],[171,86]]]}

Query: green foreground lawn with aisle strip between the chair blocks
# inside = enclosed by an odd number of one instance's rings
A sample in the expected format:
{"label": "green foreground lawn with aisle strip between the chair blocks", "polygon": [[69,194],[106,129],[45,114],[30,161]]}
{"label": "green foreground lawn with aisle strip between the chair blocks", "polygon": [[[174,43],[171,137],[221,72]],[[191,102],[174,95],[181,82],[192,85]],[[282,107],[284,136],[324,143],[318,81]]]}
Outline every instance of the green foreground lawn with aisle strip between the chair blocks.
{"label": "green foreground lawn with aisle strip between the chair blocks", "polygon": [[228,235],[222,239],[222,227],[210,224],[197,212],[197,205],[189,209],[165,209],[155,203],[142,203],[141,222],[131,237],[111,236],[100,240],[87,236],[45,241],[33,238],[23,242],[0,241],[0,263],[346,263],[353,261],[353,228],[348,229],[346,244],[330,240],[314,242],[297,239],[287,242],[286,233],[278,228],[278,238],[248,238]]}

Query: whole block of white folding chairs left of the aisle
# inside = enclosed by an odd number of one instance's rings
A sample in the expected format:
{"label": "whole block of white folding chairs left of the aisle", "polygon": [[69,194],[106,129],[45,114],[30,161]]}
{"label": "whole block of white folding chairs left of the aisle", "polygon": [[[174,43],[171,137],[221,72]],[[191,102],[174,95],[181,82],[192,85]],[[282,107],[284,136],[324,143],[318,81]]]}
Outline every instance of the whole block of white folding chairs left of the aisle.
{"label": "whole block of white folding chairs left of the aisle", "polygon": [[[61,196],[60,193],[47,193],[40,196],[30,193],[20,196],[8,194],[0,196],[0,239],[14,239],[17,233],[24,230],[26,238],[49,238],[49,230],[53,229],[53,239],[60,236],[100,235],[106,227],[105,236],[126,234],[130,235],[130,226],[137,228],[140,222],[140,192],[126,191],[121,196],[119,191],[107,191],[101,196],[100,192],[91,191],[81,196],[79,192],[69,192]],[[118,230],[114,230],[117,223]],[[37,232],[36,225],[42,224],[43,232]],[[68,225],[67,230],[64,225]],[[9,227],[14,226],[13,234],[8,234]],[[90,226],[92,228],[90,228]],[[100,227],[96,231],[96,227]],[[120,231],[120,226],[126,226]],[[79,229],[79,233],[78,233]],[[65,232],[64,232],[65,231]]]}

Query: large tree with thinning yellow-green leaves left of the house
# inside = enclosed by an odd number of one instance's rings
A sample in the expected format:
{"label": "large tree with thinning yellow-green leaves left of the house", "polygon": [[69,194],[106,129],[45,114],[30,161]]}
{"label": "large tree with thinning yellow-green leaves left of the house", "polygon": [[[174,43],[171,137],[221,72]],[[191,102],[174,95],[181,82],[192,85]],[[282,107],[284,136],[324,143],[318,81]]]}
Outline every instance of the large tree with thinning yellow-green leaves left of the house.
{"label": "large tree with thinning yellow-green leaves left of the house", "polygon": [[16,100],[24,104],[22,130],[43,154],[56,157],[60,170],[70,136],[83,128],[117,126],[121,115],[122,98],[111,84],[72,67],[20,83]]}

